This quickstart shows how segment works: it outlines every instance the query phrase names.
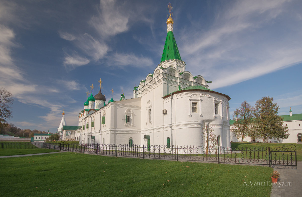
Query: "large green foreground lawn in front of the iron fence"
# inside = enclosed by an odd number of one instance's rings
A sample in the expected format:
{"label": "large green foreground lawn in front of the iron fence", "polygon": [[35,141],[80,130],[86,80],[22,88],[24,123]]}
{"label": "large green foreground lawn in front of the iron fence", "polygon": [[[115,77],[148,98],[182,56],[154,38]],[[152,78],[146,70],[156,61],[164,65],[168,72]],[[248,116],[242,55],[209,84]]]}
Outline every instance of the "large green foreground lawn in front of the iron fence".
{"label": "large green foreground lawn in front of the iron fence", "polygon": [[271,186],[249,181],[269,184],[273,171],[70,152],[2,158],[0,169],[6,196],[270,196]]}

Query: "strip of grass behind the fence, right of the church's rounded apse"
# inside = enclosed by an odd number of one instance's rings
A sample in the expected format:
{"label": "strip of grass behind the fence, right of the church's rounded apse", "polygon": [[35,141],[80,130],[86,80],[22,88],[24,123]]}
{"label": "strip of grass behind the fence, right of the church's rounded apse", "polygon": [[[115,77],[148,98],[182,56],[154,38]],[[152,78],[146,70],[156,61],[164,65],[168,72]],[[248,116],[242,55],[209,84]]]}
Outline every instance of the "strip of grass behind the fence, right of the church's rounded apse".
{"label": "strip of grass behind the fence, right of the church's rounded apse", "polygon": [[[247,143],[247,142],[231,142],[231,147],[270,147],[270,148],[276,148],[276,147],[287,147],[291,145],[291,143]],[[297,151],[297,161],[302,161],[302,144],[294,144],[296,146]]]}

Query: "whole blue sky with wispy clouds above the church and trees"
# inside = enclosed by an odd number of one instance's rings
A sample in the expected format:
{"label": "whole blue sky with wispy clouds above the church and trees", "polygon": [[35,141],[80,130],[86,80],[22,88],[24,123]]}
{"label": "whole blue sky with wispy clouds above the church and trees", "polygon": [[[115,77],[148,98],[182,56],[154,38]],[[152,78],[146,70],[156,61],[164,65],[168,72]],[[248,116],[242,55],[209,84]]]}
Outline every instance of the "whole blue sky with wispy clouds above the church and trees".
{"label": "whole blue sky with wispy clouds above the church and trees", "polygon": [[[77,125],[87,90],[107,102],[160,63],[165,1],[0,1],[0,86],[12,92],[22,129],[55,132],[65,110]],[[186,70],[231,97],[274,98],[280,115],[302,113],[302,1],[171,1]],[[106,102],[106,103],[107,103]]]}

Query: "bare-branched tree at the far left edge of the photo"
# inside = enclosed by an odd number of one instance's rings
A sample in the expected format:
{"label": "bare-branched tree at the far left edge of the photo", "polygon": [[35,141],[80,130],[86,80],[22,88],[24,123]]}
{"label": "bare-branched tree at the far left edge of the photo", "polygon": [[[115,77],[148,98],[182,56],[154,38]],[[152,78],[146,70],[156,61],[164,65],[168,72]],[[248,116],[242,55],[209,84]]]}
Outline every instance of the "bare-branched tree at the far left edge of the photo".
{"label": "bare-branched tree at the far left edge of the photo", "polygon": [[0,89],[0,128],[6,125],[7,121],[5,119],[10,119],[11,106],[14,102],[13,95],[11,92],[7,91],[3,87]]}

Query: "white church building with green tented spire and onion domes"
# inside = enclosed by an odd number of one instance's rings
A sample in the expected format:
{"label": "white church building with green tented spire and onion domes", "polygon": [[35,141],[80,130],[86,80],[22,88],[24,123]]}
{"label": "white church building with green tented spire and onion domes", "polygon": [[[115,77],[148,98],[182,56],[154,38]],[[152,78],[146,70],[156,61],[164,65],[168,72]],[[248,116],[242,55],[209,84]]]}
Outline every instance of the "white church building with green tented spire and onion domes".
{"label": "white church building with green tented spire and onion domes", "polygon": [[[91,95],[79,113],[78,125],[67,126],[64,113],[58,132],[80,144],[205,145],[202,128],[214,129],[218,146],[230,147],[230,97],[209,89],[208,81],[186,70],[167,19],[162,59],[134,86],[133,98]],[[190,66],[188,66],[189,68]],[[113,91],[113,90],[111,90]],[[66,134],[67,131],[67,134]]]}

